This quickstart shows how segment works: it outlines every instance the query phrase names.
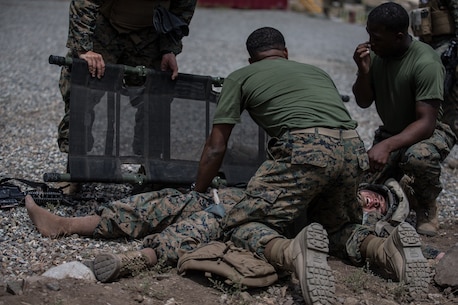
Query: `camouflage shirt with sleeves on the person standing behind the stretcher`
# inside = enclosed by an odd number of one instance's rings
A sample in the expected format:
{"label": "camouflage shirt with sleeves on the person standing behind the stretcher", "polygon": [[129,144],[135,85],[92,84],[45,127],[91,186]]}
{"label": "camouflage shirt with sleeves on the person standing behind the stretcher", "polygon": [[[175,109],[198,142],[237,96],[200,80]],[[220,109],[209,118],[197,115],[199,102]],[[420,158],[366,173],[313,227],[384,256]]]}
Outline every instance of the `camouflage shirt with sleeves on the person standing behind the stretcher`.
{"label": "camouflage shirt with sleeves on the person standing behind the stretcher", "polygon": [[[67,47],[74,51],[91,51],[92,36],[96,20],[102,14],[110,20],[112,26],[120,33],[131,33],[153,27],[154,8],[161,5],[178,18],[189,24],[197,0],[72,0],[70,2],[70,24]],[[157,39],[152,37],[152,40]],[[159,37],[161,50],[181,52],[181,44],[169,41],[165,36]]]}

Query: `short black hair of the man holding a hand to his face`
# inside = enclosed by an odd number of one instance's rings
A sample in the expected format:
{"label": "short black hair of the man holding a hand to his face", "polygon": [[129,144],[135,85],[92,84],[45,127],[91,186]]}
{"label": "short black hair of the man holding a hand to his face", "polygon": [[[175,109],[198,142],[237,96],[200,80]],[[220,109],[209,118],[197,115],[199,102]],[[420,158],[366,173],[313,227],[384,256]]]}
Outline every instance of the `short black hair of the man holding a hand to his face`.
{"label": "short black hair of the man holding a hand to his face", "polygon": [[392,33],[409,30],[409,14],[399,4],[386,2],[375,7],[367,16],[367,23],[382,25]]}

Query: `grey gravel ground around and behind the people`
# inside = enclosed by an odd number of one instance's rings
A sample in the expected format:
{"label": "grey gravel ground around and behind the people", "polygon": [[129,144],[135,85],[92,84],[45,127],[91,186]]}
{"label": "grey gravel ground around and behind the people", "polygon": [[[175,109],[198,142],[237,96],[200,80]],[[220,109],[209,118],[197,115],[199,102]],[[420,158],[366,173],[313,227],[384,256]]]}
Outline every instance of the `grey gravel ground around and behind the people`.
{"label": "grey gravel ground around and behind the people", "polygon": [[[63,172],[66,156],[57,148],[57,124],[63,112],[58,91],[59,68],[48,56],[66,54],[68,1],[0,0],[0,177],[41,181],[45,172]],[[342,94],[352,97],[355,78],[352,54],[367,39],[364,26],[313,18],[287,11],[242,11],[198,8],[180,72],[225,76],[247,64],[244,42],[252,30],[273,26],[283,32],[290,59],[327,71]],[[353,98],[346,104],[359,122],[367,147],[379,120],[374,109],[361,110]],[[457,159],[457,149],[449,158]],[[440,221],[456,223],[456,170],[444,164],[444,191],[439,197]],[[129,186],[90,184],[86,190],[110,198],[125,196]],[[50,206],[67,216],[91,213],[97,203],[75,207]],[[49,267],[93,257],[103,250],[125,251],[140,241],[99,241],[72,236],[42,238],[24,208],[0,211],[0,282],[41,274]]]}

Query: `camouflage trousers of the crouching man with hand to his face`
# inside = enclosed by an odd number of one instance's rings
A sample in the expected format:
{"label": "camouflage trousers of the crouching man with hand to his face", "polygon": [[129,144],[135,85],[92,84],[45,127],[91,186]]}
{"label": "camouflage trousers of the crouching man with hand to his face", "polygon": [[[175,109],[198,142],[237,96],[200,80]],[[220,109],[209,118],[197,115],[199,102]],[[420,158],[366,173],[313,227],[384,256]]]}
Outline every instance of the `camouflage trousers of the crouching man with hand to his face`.
{"label": "camouflage trousers of the crouching man with hand to his face", "polygon": [[[376,136],[374,144],[384,137]],[[447,124],[438,122],[433,135],[408,148],[392,152],[387,166],[380,174],[371,176],[366,182],[382,183],[387,178],[400,180],[404,175],[411,179],[412,188],[418,204],[436,200],[442,191],[440,182],[441,162],[449,155],[456,138]]]}

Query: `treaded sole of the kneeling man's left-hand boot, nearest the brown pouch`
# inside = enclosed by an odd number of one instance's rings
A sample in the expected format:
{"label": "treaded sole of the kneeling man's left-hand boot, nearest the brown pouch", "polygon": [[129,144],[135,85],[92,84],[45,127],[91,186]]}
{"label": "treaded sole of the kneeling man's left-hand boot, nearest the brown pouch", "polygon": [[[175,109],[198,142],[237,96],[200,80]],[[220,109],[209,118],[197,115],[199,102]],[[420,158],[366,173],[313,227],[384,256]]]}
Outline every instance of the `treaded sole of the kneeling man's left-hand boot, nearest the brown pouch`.
{"label": "treaded sole of the kneeling man's left-hand boot, nearest the brown pouch", "polygon": [[335,304],[335,279],[328,265],[329,240],[322,225],[312,223],[300,237],[304,270],[299,270],[302,295],[306,304]]}

